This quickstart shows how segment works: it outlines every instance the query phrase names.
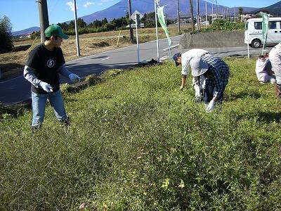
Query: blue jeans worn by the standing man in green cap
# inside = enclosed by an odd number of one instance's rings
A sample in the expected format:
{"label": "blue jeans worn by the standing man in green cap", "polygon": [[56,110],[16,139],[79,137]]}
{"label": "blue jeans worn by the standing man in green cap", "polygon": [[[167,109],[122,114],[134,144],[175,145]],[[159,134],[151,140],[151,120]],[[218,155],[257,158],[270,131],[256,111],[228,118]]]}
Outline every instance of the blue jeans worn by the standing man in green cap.
{"label": "blue jeans worn by the standing man in green cap", "polygon": [[38,127],[44,121],[47,99],[53,107],[57,119],[59,121],[67,120],[65,104],[63,103],[63,96],[60,91],[55,91],[54,93],[50,94],[36,94],[32,92],[32,127]]}

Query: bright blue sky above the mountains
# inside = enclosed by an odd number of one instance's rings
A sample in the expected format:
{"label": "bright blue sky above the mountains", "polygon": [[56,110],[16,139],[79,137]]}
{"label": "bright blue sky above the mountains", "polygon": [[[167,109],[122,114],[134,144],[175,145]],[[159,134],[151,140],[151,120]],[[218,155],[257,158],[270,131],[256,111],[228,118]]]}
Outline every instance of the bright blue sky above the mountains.
{"label": "bright blue sky above the mountains", "polygon": [[[76,0],[77,16],[81,17],[103,10],[120,0]],[[142,0],[139,0],[142,1]],[[152,1],[153,0],[146,0]],[[176,0],[170,0],[175,1]],[[186,0],[188,2],[188,0]],[[196,0],[193,0],[194,4]],[[208,0],[209,1],[209,0]],[[213,0],[211,0],[213,1]],[[250,6],[264,7],[277,3],[280,0],[218,0],[223,6]],[[74,18],[72,0],[47,0],[49,23],[62,23]],[[161,0],[160,0],[161,4]],[[36,0],[0,0],[0,17],[6,15],[13,25],[13,31],[25,30],[39,26],[38,3]]]}

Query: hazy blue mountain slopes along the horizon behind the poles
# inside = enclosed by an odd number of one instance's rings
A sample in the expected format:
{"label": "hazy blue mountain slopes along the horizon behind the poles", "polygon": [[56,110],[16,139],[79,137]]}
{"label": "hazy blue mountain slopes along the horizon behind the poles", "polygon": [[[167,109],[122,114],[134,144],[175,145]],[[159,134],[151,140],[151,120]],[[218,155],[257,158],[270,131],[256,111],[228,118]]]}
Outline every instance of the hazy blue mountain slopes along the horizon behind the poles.
{"label": "hazy blue mountain slopes along the horizon behind the poles", "polygon": [[[181,14],[189,14],[190,13],[190,8],[189,8],[189,1],[186,0],[179,0],[179,10],[181,11]],[[171,1],[171,0],[161,0],[161,5],[160,6],[165,6],[165,13],[167,18],[176,18],[177,17],[177,5],[176,1]],[[216,13],[216,5],[214,7],[214,13]],[[200,15],[205,14],[205,9],[206,9],[206,1],[200,0],[199,1],[199,8],[200,8]],[[238,8],[229,8],[225,6],[218,5],[218,13],[223,13],[223,8],[228,8],[228,13],[233,14],[233,13],[238,13]],[[249,13],[254,13],[254,11],[259,11],[261,8],[251,8],[251,7],[242,7],[244,13],[249,12]],[[272,14],[277,14],[280,11],[281,8],[281,1],[279,1],[276,4],[273,4],[271,6],[268,6],[266,8],[267,11],[270,11]],[[139,11],[140,13],[151,13],[155,11],[155,6],[154,6],[154,1],[148,1],[148,0],[131,0],[131,11]],[[128,1],[127,0],[120,0],[117,4],[110,6],[109,8],[106,8],[102,11],[98,11],[96,13],[92,13],[90,15],[84,15],[79,18],[82,18],[84,22],[87,24],[92,23],[94,20],[102,20],[103,18],[107,18],[108,21],[112,20],[113,18],[120,18],[124,17],[126,15],[126,12],[128,11]],[[196,15],[196,1],[193,1],[193,11],[194,14]],[[207,2],[207,11],[208,13],[211,13],[211,3]],[[65,21],[65,22],[69,22]],[[34,31],[39,31],[39,27],[31,27],[26,30],[21,30],[18,32],[12,32],[12,34],[15,35],[20,35],[20,34],[30,34]]]}

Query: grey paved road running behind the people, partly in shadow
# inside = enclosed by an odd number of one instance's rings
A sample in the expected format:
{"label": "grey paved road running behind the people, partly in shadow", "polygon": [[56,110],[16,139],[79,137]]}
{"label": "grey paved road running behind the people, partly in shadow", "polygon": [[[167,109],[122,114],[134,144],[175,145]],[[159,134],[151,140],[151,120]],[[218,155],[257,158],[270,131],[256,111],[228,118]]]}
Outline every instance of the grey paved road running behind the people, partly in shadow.
{"label": "grey paved road running behind the people, partly in shadow", "polygon": [[[172,37],[173,44],[179,43],[181,36]],[[169,51],[164,51],[168,47],[166,39],[159,40],[159,56],[170,56]],[[140,60],[157,60],[156,41],[150,41],[139,45]],[[188,50],[188,49],[185,49]],[[181,52],[184,52],[182,50]],[[214,56],[230,56],[230,55],[247,55],[247,47],[237,48],[220,48],[207,49],[214,53]],[[269,50],[269,49],[268,49]],[[177,48],[171,49],[171,55],[178,51]],[[261,49],[252,50],[251,54],[260,54]],[[95,74],[100,75],[102,72],[110,69],[129,68],[138,63],[136,45],[122,49],[98,53],[93,56],[87,56],[67,62],[67,68],[71,72],[76,73],[81,77]],[[62,78],[61,82],[67,82],[67,79]],[[20,101],[26,101],[30,98],[30,83],[22,76],[15,79],[9,79],[0,82],[0,102],[5,105],[11,105]]]}

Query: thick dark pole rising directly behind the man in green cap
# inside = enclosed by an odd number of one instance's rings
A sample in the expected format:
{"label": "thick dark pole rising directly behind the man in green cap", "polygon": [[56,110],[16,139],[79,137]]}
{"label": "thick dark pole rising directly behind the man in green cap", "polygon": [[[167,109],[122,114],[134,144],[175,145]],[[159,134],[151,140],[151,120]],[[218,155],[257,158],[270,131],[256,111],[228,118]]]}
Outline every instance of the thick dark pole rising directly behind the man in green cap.
{"label": "thick dark pole rising directly behind the man in green cap", "polygon": [[45,30],[48,27],[48,6],[47,0],[38,0],[38,11],[40,20],[41,44],[46,40]]}

